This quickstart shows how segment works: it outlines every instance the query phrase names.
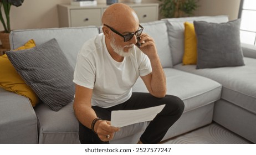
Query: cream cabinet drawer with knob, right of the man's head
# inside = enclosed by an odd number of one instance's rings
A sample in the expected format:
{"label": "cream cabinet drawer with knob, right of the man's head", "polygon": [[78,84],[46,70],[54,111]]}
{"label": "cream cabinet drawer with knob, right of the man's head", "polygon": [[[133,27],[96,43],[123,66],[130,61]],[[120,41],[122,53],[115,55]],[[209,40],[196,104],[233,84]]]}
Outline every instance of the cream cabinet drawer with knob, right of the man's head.
{"label": "cream cabinet drawer with knob, right of the man's head", "polygon": [[139,17],[140,23],[152,22],[157,20],[157,7],[132,7]]}

